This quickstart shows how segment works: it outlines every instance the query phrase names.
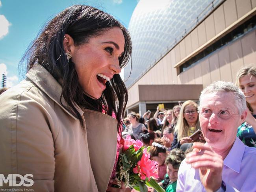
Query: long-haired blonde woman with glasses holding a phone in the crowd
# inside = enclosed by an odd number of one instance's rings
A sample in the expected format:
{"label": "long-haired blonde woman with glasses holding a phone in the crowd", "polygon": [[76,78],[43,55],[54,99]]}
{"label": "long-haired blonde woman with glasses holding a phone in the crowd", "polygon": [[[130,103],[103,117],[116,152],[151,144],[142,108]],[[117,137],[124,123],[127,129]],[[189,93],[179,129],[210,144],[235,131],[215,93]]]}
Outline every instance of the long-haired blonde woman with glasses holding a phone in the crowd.
{"label": "long-haired blonde woman with glasses holding a phone in the crowd", "polygon": [[197,107],[197,103],[191,100],[188,100],[182,104],[178,122],[174,129],[175,133],[171,147],[172,149],[180,148],[180,146],[184,143],[193,142],[189,136],[192,135],[197,129],[201,130],[198,120]]}

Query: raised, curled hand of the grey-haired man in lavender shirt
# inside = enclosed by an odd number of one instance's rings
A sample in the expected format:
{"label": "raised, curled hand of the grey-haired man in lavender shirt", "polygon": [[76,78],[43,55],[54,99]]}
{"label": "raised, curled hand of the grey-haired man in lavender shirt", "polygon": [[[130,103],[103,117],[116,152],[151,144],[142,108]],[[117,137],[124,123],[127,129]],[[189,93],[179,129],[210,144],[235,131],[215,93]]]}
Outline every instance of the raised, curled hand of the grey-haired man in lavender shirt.
{"label": "raised, curled hand of the grey-haired man in lavender shirt", "polygon": [[221,187],[223,159],[210,146],[200,142],[193,143],[193,151],[186,155],[186,162],[199,169],[200,180],[207,192]]}

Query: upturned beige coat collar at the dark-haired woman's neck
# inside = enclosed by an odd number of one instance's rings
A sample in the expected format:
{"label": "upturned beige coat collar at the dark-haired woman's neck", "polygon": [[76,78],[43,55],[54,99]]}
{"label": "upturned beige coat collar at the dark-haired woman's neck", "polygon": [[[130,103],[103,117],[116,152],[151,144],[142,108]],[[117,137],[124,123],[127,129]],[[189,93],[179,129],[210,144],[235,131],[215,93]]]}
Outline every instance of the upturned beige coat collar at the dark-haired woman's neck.
{"label": "upturned beige coat collar at the dark-haired woman's neck", "polygon": [[[78,120],[68,109],[70,109],[67,102],[64,100],[64,98],[61,97],[62,87],[54,79],[54,77],[41,65],[35,64],[26,74],[26,76],[39,87],[46,95],[48,95],[54,102],[56,102],[66,113],[68,113],[72,118]],[[62,104],[61,104],[62,102]],[[80,113],[80,115],[83,115],[82,109],[74,103],[74,106],[76,107],[76,110]]]}

